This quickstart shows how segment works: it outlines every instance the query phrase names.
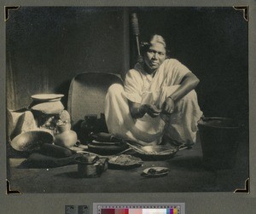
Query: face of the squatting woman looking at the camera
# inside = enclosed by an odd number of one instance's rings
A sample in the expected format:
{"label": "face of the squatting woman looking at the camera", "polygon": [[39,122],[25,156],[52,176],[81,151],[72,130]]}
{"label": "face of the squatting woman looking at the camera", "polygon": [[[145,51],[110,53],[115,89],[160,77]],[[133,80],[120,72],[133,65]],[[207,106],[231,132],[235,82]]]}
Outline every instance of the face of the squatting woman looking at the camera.
{"label": "face of the squatting woman looking at the camera", "polygon": [[144,61],[151,72],[159,68],[165,60],[166,49],[162,43],[153,43],[144,55]]}

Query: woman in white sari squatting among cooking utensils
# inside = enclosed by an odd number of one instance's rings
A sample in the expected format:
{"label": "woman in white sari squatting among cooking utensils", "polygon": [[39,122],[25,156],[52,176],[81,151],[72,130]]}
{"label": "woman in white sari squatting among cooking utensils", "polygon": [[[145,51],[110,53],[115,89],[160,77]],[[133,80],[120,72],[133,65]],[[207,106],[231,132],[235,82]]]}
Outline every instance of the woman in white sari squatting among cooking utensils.
{"label": "woman in white sari squatting among cooking utensils", "polygon": [[143,60],[127,72],[125,88],[113,84],[108,89],[109,132],[142,145],[195,144],[202,116],[194,90],[198,83],[182,63],[167,59],[164,38],[154,35],[143,49]]}

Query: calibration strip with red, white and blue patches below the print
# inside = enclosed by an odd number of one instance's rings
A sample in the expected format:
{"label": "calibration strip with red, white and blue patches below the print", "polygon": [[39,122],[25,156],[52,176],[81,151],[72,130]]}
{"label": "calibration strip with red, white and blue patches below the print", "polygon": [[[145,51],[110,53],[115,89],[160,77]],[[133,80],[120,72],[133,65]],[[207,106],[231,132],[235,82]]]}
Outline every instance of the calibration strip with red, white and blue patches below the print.
{"label": "calibration strip with red, white and blue patches below the print", "polygon": [[184,214],[184,204],[172,205],[97,205],[96,214]]}

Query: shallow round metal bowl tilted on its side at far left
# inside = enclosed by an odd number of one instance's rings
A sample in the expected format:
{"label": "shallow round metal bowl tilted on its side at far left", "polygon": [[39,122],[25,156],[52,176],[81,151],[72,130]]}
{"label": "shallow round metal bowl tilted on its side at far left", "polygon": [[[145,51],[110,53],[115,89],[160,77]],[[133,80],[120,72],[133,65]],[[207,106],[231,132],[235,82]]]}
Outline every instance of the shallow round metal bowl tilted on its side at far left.
{"label": "shallow round metal bowl tilted on its side at far left", "polygon": [[10,142],[10,145],[20,152],[38,151],[44,143],[52,143],[53,136],[42,130],[24,132]]}

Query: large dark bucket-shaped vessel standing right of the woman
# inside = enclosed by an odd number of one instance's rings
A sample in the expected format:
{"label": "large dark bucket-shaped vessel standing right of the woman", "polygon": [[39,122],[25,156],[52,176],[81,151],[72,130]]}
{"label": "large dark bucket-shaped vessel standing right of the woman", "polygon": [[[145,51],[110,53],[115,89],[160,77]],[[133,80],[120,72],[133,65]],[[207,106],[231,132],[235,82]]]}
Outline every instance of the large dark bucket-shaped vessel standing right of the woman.
{"label": "large dark bucket-shaped vessel standing right of the woman", "polygon": [[233,168],[242,124],[237,119],[208,117],[199,121],[198,128],[204,166],[209,170]]}

